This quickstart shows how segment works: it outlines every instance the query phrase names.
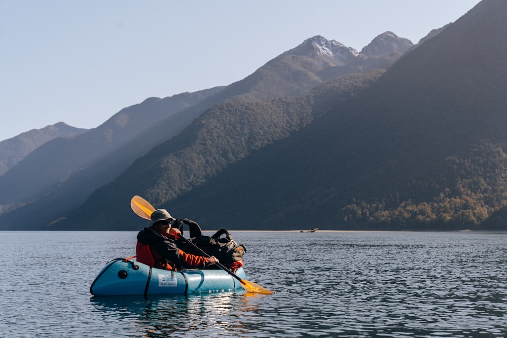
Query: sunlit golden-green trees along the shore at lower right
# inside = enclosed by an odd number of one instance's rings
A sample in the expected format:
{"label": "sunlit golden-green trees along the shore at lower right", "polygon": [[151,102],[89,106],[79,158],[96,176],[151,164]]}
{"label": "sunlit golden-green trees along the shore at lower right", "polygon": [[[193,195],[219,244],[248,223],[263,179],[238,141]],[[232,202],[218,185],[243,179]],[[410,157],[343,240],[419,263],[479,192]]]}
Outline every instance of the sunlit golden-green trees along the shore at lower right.
{"label": "sunlit golden-green trees along the shore at lower right", "polygon": [[447,178],[453,180],[442,185],[438,196],[428,196],[427,202],[408,199],[389,208],[384,201],[354,200],[343,208],[345,221],[377,223],[396,230],[483,229],[490,223],[488,218],[507,205],[507,155],[503,148],[505,145],[482,142],[461,158],[447,158]]}

